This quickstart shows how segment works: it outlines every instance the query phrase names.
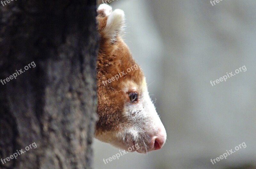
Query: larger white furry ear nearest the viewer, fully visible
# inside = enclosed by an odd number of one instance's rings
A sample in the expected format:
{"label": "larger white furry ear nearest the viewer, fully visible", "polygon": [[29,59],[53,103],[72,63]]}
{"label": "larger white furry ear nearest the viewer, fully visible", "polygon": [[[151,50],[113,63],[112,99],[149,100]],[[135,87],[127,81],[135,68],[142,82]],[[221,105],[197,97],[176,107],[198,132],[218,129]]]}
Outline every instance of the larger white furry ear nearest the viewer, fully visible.
{"label": "larger white furry ear nearest the viewer, fully visible", "polygon": [[119,32],[122,31],[124,26],[124,11],[116,9],[108,16],[106,27],[103,32],[106,37],[115,40]]}

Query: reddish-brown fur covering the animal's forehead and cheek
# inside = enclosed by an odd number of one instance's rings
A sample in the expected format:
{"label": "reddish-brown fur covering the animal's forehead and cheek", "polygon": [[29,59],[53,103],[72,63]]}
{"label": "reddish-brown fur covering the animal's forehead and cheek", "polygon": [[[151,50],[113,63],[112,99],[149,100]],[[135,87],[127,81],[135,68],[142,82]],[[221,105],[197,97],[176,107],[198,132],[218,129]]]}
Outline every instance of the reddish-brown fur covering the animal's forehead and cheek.
{"label": "reddish-brown fur covering the animal's forehead and cheek", "polygon": [[[127,121],[123,116],[123,109],[129,96],[124,93],[123,82],[132,80],[138,86],[143,81],[143,73],[139,67],[130,73],[120,77],[118,81],[112,81],[104,86],[102,81],[111,79],[118,72],[126,72],[127,68],[135,65],[130,50],[117,32],[115,40],[111,41],[104,35],[104,28],[107,22],[104,12],[98,10],[98,31],[100,34],[100,48],[97,60],[97,95],[98,95],[98,116],[96,135],[104,131],[116,131]],[[140,91],[137,91],[140,93]]]}

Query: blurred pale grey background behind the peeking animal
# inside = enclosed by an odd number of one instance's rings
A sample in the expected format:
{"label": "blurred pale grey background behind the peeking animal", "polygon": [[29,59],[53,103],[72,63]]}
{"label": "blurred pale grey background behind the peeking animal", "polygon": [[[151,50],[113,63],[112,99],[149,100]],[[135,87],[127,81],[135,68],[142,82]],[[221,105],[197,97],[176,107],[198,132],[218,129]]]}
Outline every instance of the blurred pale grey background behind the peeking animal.
{"label": "blurred pale grey background behind the peeking animal", "polygon": [[[124,10],[124,40],[144,71],[168,140],[161,150],[105,164],[119,149],[94,139],[94,168],[255,169],[256,1],[108,4]],[[244,65],[247,71],[210,84]],[[246,148],[227,159],[210,161],[243,142]]]}

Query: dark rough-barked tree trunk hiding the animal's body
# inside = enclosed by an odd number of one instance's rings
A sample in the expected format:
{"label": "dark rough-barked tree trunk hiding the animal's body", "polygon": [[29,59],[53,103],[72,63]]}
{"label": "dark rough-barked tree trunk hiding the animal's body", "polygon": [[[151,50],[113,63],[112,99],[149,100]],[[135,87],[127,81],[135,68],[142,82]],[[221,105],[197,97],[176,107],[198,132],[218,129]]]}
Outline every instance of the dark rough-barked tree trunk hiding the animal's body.
{"label": "dark rough-barked tree trunk hiding the animal's body", "polygon": [[93,0],[0,4],[0,80],[36,65],[0,83],[1,169],[92,168],[95,17]]}

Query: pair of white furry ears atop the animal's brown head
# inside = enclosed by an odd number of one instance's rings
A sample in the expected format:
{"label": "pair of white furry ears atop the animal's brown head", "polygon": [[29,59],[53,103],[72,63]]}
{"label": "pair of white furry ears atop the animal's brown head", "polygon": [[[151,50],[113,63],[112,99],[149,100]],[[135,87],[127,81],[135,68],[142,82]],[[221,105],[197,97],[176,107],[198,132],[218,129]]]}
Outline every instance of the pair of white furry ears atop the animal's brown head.
{"label": "pair of white furry ears atop the animal's brown head", "polygon": [[[112,7],[107,4],[101,4],[97,10],[98,16],[107,18],[106,24],[99,23],[99,31],[105,38],[110,38],[110,41],[116,40],[116,36],[124,27],[124,11],[116,9],[112,12]],[[100,27],[102,26],[102,27]]]}

